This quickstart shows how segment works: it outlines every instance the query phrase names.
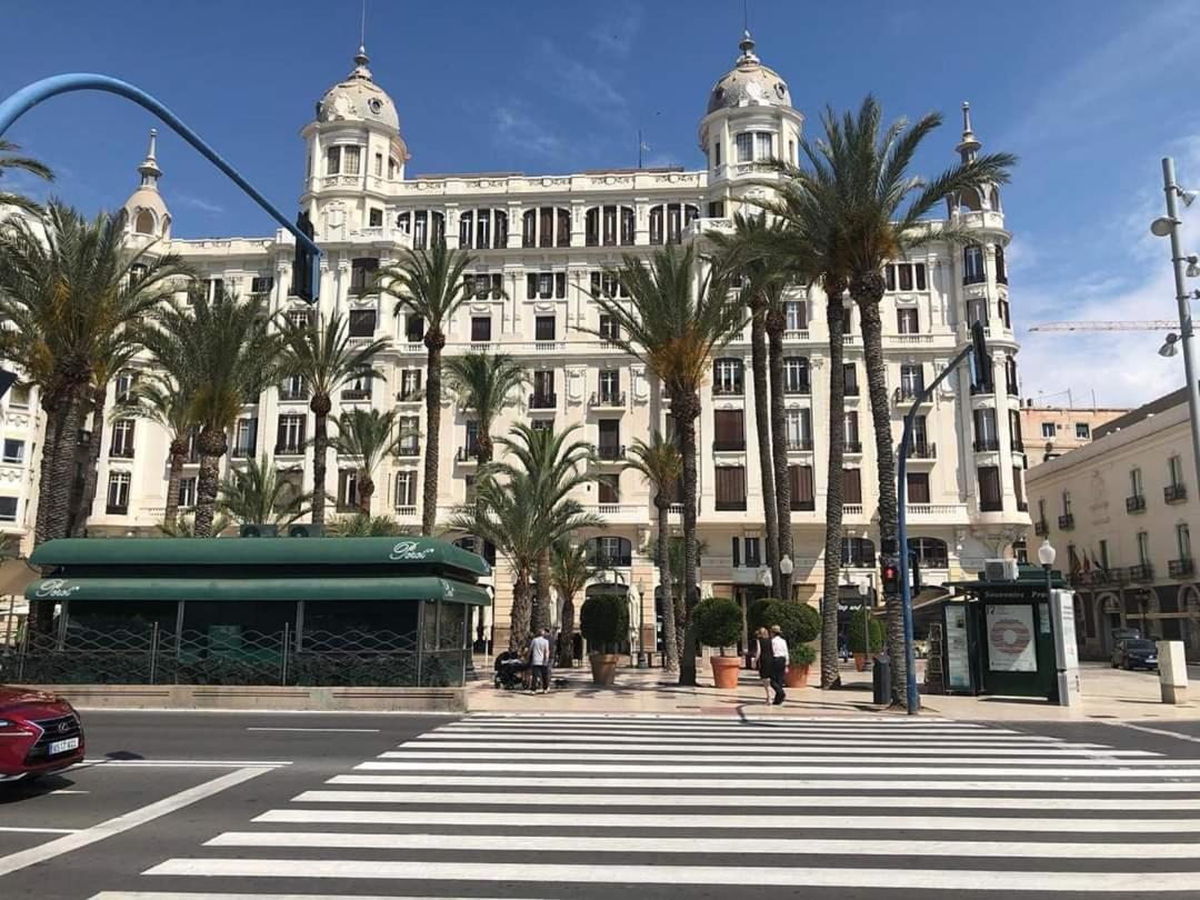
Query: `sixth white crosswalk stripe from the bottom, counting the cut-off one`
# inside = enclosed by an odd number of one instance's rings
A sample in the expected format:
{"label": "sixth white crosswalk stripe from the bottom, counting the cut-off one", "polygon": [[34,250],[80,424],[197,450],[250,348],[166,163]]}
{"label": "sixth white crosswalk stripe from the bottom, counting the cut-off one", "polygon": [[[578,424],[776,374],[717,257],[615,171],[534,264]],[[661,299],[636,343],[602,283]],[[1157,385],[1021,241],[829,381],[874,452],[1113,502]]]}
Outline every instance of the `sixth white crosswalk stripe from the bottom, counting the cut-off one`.
{"label": "sixth white crosswalk stripe from the bottom, counting the cut-off one", "polygon": [[[540,768],[540,767],[539,767]],[[859,769],[854,769],[859,773]],[[924,770],[917,774],[928,774]],[[972,775],[979,772],[972,769]],[[538,787],[551,791],[560,787],[632,787],[632,788],[688,788],[701,791],[727,790],[743,793],[754,791],[787,791],[792,788],[827,790],[830,786],[862,791],[914,791],[914,792],[966,792],[966,791],[1054,791],[1079,793],[1200,793],[1200,782],[1168,781],[1153,779],[1147,773],[1138,781],[1108,782],[1092,778],[1070,780],[1073,775],[1055,772],[1061,781],[902,781],[888,779],[782,779],[782,778],[541,778],[539,775],[335,775],[325,784],[335,785],[408,785],[418,787]],[[1104,773],[1111,775],[1111,772]]]}

